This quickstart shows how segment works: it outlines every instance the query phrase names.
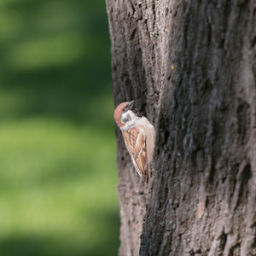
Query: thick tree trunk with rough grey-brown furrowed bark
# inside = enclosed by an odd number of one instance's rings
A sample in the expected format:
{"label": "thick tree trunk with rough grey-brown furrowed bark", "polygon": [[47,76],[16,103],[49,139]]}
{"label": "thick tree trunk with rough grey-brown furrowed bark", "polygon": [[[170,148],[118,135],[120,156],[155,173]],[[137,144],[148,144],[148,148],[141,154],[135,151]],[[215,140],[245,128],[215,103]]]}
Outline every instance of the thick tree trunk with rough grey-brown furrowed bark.
{"label": "thick tree trunk with rough grey-brown furrowed bark", "polygon": [[148,187],[116,131],[119,255],[256,255],[255,0],[106,3],[115,106],[157,129]]}

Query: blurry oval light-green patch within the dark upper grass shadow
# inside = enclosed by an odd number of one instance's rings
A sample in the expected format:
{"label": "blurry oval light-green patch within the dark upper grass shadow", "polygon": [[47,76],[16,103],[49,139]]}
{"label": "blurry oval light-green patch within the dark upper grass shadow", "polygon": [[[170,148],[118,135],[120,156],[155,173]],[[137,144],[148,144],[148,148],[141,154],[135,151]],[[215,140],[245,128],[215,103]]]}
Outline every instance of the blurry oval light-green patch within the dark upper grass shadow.
{"label": "blurry oval light-green patch within the dark upper grass shadow", "polygon": [[9,66],[20,69],[62,67],[77,61],[85,49],[82,38],[70,33],[32,38],[15,45],[9,51]]}

